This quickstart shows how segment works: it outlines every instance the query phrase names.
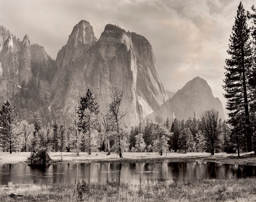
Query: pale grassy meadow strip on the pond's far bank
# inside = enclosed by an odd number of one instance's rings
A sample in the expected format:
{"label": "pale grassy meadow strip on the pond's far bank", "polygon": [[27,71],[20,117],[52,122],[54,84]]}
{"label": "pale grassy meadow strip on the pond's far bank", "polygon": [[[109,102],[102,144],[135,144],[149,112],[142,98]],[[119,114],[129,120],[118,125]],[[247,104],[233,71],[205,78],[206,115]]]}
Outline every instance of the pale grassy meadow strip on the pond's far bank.
{"label": "pale grassy meadow strip on the pond's far bank", "polygon": [[[98,155],[96,155],[98,154]],[[30,152],[18,153],[0,153],[0,163],[18,163],[25,162]],[[123,153],[124,158],[120,159],[118,155],[106,155],[106,152],[93,152],[92,155],[87,153],[80,153],[80,156],[75,156],[73,152],[52,152],[50,157],[52,159],[63,160],[64,162],[162,162],[162,161],[212,161],[220,163],[239,163],[256,165],[256,156],[253,152],[242,153],[238,158],[237,154],[216,153],[211,156],[210,153],[167,153],[167,155],[160,156],[158,153]]]}

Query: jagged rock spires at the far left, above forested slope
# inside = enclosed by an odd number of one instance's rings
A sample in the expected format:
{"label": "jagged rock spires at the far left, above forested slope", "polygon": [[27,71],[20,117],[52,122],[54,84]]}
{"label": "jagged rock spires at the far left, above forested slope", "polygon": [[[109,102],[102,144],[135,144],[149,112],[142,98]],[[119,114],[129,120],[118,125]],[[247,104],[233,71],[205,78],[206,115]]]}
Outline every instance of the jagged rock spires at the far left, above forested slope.
{"label": "jagged rock spires at the far left, above forested slope", "polygon": [[[8,34],[10,32],[0,26],[0,103],[7,98],[15,99],[18,86],[32,78],[28,35],[19,41],[13,35],[7,37]],[[3,45],[2,39],[5,39]]]}

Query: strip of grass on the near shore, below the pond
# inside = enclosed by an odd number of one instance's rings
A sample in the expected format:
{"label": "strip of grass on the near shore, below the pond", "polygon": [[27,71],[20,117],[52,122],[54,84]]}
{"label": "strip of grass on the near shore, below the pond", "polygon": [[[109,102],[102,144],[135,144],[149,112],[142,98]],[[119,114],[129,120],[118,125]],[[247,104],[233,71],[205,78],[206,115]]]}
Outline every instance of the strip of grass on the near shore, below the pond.
{"label": "strip of grass on the near shore, below the pond", "polygon": [[[18,198],[7,195],[15,193]],[[49,185],[0,186],[0,201],[256,201],[256,180],[208,179],[192,182],[81,183],[74,187]]]}

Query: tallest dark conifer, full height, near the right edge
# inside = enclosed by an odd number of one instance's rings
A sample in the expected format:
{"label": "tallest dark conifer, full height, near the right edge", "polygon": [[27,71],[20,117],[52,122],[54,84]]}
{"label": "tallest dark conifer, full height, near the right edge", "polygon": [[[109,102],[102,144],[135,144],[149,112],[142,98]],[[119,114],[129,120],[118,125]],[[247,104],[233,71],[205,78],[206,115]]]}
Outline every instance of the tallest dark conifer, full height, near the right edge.
{"label": "tallest dark conifer, full height, near the right edge", "polygon": [[230,59],[226,59],[227,66],[225,69],[226,91],[224,95],[228,99],[227,109],[229,113],[229,123],[235,126],[238,120],[243,117],[245,120],[247,151],[252,151],[252,134],[249,117],[249,100],[248,100],[248,79],[252,67],[252,53],[250,41],[250,28],[247,25],[247,16],[240,2],[237,10],[237,17],[232,28],[228,54]]}

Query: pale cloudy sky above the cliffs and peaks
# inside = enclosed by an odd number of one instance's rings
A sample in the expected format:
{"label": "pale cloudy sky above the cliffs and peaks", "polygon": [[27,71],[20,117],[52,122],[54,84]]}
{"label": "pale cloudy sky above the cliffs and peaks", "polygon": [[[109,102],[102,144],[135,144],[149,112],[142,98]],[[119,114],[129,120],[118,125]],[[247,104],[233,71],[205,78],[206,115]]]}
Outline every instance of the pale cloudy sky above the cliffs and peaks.
{"label": "pale cloudy sky above the cliffs and peaks", "polygon": [[[223,78],[237,0],[0,0],[0,24],[56,58],[73,26],[87,20],[95,36],[106,24],[143,35],[151,43],[165,89],[176,92],[196,76],[204,78],[223,107]],[[243,1],[251,10],[255,0]],[[248,22],[249,26],[252,26]]]}

